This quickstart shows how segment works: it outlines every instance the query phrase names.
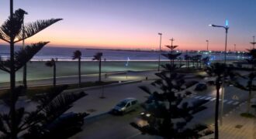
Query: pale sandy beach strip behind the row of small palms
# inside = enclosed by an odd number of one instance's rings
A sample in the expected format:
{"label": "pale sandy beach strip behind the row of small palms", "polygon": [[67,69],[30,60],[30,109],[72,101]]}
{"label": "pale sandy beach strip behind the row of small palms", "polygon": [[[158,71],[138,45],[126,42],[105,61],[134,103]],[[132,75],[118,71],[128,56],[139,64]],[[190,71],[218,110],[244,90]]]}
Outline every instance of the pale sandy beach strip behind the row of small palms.
{"label": "pale sandy beach strip behind the row of small palms", "polygon": [[[166,62],[162,62],[166,63]],[[126,66],[125,61],[102,61],[102,73],[118,72],[118,71],[144,71],[157,69],[157,62],[154,61],[130,61]],[[27,64],[27,80],[39,80],[51,78],[53,68],[45,66],[45,62],[31,62]],[[99,62],[81,62],[81,74],[99,73]],[[61,76],[77,76],[77,61],[59,61],[57,62],[57,77]],[[22,69],[16,73],[16,81],[22,80]],[[9,82],[9,74],[0,71],[0,83]]]}

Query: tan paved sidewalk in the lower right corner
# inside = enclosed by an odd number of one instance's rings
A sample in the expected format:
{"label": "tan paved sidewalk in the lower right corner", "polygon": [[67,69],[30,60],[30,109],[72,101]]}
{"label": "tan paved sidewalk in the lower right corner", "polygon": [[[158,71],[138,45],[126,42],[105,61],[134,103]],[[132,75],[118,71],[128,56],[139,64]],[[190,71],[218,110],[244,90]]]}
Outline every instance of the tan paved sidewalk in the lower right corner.
{"label": "tan paved sidewalk in the lower right corner", "polygon": [[[256,95],[254,95],[255,100]],[[255,102],[253,102],[255,103]],[[230,111],[223,117],[223,126],[219,126],[220,139],[255,139],[256,138],[256,118],[241,117],[247,108],[247,102],[241,103],[237,108]],[[256,116],[256,111],[251,109],[251,113]],[[214,124],[211,125],[214,131]],[[202,138],[214,138],[214,134]]]}

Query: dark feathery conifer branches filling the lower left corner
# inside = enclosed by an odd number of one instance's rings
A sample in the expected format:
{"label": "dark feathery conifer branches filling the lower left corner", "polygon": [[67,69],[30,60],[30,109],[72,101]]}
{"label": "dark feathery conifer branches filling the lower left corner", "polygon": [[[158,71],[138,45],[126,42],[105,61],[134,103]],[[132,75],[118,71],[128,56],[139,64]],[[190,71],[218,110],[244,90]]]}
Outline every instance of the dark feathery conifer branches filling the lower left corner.
{"label": "dark feathery conifer branches filling the lower left corner", "polygon": [[[72,107],[72,103],[86,95],[84,92],[62,93],[65,89],[67,89],[67,86],[57,86],[46,90],[45,93],[34,96],[32,100],[38,103],[36,110],[27,112],[24,107],[17,109],[17,134],[22,132],[24,134],[22,138],[26,139],[66,138],[65,136],[69,135],[67,133],[71,132],[68,129],[78,126],[78,122],[84,121],[84,117],[88,116],[88,114],[80,113],[76,115],[75,119],[66,118],[61,120],[61,115]],[[23,87],[19,86],[16,88],[16,93],[21,93],[22,90]],[[9,104],[10,101],[12,100],[7,99],[5,103]],[[0,116],[2,138],[12,137],[9,114],[0,114]],[[74,122],[74,125],[71,122]],[[58,123],[62,123],[62,127],[57,127]]]}

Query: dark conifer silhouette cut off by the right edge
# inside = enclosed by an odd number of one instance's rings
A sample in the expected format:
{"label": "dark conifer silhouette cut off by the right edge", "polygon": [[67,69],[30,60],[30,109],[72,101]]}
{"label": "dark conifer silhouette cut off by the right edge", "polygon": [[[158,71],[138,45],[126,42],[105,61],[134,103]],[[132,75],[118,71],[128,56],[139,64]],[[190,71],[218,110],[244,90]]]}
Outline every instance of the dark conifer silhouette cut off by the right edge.
{"label": "dark conifer silhouette cut off by the right edge", "polygon": [[256,79],[256,72],[255,72],[255,66],[256,66],[256,49],[250,49],[249,56],[251,56],[250,59],[247,59],[247,63],[251,65],[251,73],[246,76],[240,77],[247,80],[247,84],[244,85],[243,83],[239,83],[237,80],[234,81],[234,86],[239,88],[240,90],[248,91],[248,98],[247,98],[247,114],[250,113],[250,107],[251,107],[251,92],[256,90],[256,85],[254,84],[254,80]]}

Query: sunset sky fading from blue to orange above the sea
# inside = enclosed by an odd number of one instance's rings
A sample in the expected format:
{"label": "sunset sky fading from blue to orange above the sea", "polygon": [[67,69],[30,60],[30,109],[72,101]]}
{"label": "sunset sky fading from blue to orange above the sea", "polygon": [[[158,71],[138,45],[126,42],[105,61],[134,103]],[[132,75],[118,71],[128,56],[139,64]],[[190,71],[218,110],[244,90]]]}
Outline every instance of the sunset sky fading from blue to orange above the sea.
{"label": "sunset sky fading from blue to orange above the sea", "polygon": [[[48,46],[84,46],[110,49],[158,49],[170,45],[178,49],[223,50],[225,30],[209,24],[225,25],[228,19],[228,49],[249,49],[256,36],[255,0],[14,0],[22,8],[25,22],[62,18],[61,22],[36,34],[26,42],[50,41]],[[0,24],[9,16],[9,0],[0,2]],[[0,41],[0,43],[3,43]]]}

